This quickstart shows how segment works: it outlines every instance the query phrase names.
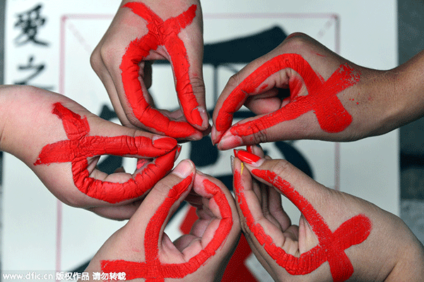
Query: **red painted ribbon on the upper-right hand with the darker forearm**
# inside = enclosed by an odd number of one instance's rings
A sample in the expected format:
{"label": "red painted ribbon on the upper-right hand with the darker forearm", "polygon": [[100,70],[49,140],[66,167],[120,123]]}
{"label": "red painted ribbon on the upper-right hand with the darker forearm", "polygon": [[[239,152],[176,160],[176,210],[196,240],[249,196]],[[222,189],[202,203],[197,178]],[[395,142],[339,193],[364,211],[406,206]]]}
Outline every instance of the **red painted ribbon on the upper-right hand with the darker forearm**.
{"label": "red painted ribbon on the upper-right hand with the darker forearm", "polygon": [[257,68],[230,93],[216,118],[216,129],[222,132],[230,128],[232,114],[240,109],[248,93],[253,93],[266,78],[284,68],[292,68],[302,77],[308,94],[298,96],[301,82],[298,79],[290,80],[289,104],[257,120],[234,125],[231,128],[233,135],[252,135],[283,121],[298,118],[308,111],[314,111],[319,126],[328,133],[338,133],[351,124],[352,116],[344,109],[336,94],[355,85],[360,80],[360,74],[345,64],[339,66],[324,82],[302,56],[283,54]]}

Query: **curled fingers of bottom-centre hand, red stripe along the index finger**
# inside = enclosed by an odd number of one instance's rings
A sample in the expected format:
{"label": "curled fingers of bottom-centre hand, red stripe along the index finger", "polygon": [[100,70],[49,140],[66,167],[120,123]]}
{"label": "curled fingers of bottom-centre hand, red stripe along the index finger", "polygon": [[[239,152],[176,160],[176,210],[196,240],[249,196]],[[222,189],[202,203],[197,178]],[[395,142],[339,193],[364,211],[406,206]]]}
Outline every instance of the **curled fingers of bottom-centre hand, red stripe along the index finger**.
{"label": "curled fingers of bottom-centre hand, red stripe along the index finger", "polygon": [[196,172],[193,192],[203,203],[196,205],[199,219],[189,235],[179,238],[176,245],[187,246],[181,251],[189,261],[187,268],[196,270],[203,265],[211,273],[223,273],[240,237],[234,199],[223,183],[199,171]]}

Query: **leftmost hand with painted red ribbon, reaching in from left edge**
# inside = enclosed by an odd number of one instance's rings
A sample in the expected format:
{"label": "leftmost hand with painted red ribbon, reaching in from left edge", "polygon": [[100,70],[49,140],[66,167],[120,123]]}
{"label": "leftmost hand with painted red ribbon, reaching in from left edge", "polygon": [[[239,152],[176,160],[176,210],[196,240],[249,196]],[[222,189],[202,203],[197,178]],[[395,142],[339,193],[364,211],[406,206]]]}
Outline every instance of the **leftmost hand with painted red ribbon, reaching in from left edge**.
{"label": "leftmost hand with painted red ribbon, reaching in from left edge", "polygon": [[[177,141],[105,121],[60,94],[0,87],[0,149],[28,165],[59,200],[128,219],[141,197],[172,169]],[[138,168],[107,175],[100,156],[134,157]]]}

